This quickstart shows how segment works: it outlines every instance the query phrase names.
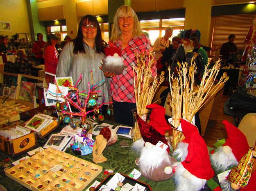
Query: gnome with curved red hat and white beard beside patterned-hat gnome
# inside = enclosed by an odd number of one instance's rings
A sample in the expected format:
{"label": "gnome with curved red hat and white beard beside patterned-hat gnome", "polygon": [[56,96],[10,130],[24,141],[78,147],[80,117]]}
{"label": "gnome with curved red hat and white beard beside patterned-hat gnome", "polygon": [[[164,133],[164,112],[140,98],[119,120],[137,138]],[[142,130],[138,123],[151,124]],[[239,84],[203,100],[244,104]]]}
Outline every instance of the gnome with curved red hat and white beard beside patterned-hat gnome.
{"label": "gnome with curved red hat and white beard beside patterned-hat gnome", "polygon": [[249,144],[245,135],[236,126],[224,120],[228,138],[222,147],[219,147],[211,156],[211,164],[217,173],[228,170],[229,167],[238,165],[248,149]]}

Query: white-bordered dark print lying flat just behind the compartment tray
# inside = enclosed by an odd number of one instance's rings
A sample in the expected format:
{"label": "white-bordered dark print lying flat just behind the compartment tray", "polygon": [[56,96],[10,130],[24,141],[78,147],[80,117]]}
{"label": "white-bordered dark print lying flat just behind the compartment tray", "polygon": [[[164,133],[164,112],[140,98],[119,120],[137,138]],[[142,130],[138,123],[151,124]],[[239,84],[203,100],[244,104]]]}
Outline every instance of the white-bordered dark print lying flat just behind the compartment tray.
{"label": "white-bordered dark print lying flat just behind the compartment tray", "polygon": [[53,149],[61,149],[68,135],[52,134],[43,148],[52,147]]}

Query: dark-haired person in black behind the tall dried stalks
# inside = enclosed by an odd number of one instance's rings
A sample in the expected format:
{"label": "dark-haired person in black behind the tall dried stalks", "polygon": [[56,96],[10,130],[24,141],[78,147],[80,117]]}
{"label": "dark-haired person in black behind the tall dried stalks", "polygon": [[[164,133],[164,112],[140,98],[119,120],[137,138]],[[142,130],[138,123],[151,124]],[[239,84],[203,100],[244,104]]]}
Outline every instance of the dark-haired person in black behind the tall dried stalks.
{"label": "dark-haired person in black behind the tall dried stalks", "polygon": [[[181,44],[181,38],[180,37],[177,37],[177,36],[174,36],[172,38],[172,44],[167,47],[165,49],[165,51],[163,52],[163,58],[161,60],[162,64],[163,64],[163,69],[162,71],[165,71],[165,76],[167,77],[168,76],[168,67],[170,66],[171,67],[171,72],[174,71],[174,67],[175,66],[178,66],[177,65],[177,61],[173,60],[174,59],[174,56],[177,52],[177,49],[179,47],[179,45]],[[174,62],[173,62],[174,61]],[[180,63],[183,62],[183,60],[178,60]],[[174,63],[174,66],[172,66],[172,63]]]}

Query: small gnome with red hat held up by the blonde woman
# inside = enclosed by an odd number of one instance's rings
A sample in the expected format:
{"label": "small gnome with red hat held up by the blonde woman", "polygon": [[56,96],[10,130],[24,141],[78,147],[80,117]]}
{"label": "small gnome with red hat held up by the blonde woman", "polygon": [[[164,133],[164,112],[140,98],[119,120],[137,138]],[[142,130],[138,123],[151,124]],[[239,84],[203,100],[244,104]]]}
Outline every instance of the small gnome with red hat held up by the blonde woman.
{"label": "small gnome with red hat held up by the blonde woman", "polygon": [[115,47],[108,47],[104,49],[106,58],[101,61],[102,71],[115,73],[120,75],[127,66],[124,64],[124,59],[121,55],[121,51]]}

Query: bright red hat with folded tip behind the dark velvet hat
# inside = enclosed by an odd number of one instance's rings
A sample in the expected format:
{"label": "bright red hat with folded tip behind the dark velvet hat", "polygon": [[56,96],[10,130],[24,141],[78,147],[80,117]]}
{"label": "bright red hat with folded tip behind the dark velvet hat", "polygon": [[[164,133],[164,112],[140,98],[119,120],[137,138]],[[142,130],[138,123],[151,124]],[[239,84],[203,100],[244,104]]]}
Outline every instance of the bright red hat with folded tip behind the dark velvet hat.
{"label": "bright red hat with folded tip behind the dark velvet hat", "polygon": [[150,104],[146,108],[152,109],[148,124],[152,125],[161,135],[165,135],[165,132],[170,129],[165,120],[165,108],[158,104]]}

